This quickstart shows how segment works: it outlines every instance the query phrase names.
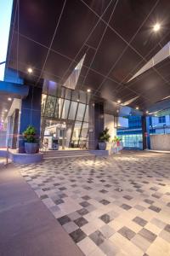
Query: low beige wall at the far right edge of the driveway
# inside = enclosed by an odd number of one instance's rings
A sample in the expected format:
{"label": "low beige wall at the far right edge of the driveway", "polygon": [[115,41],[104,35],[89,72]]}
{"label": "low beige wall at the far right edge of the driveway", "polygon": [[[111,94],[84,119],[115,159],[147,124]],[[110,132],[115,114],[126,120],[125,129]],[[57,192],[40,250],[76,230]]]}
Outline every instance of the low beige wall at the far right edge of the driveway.
{"label": "low beige wall at the far right edge of the driveway", "polygon": [[170,150],[170,134],[150,135],[150,148],[153,150]]}

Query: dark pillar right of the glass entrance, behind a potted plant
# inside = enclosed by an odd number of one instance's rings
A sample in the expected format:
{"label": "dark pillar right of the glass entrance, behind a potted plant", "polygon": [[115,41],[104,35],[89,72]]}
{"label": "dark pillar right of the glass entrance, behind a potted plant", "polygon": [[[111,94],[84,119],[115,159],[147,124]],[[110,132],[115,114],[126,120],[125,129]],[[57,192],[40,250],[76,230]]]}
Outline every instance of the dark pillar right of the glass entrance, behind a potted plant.
{"label": "dark pillar right of the glass entrance, behind a potted plant", "polygon": [[104,130],[104,104],[89,103],[88,107],[89,133],[88,148],[98,148],[99,133]]}

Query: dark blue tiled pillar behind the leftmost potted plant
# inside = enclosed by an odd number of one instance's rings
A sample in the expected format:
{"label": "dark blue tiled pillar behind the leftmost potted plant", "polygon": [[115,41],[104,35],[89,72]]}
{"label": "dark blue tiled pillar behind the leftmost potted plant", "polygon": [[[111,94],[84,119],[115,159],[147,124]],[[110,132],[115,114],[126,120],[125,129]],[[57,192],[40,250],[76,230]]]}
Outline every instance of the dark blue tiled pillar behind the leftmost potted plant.
{"label": "dark blue tiled pillar behind the leftmost potted plant", "polygon": [[29,125],[32,125],[37,130],[37,137],[40,137],[40,124],[41,124],[41,100],[42,88],[32,87],[29,88],[29,94],[21,102],[20,109],[20,139],[19,139],[19,152],[24,153],[24,139],[23,132]]}

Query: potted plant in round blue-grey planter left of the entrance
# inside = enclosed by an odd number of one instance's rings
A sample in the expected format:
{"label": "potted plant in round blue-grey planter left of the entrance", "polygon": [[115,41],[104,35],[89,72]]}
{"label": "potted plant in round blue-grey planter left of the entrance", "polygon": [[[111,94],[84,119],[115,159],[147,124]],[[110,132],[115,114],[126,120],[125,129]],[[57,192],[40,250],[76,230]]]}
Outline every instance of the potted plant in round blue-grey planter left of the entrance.
{"label": "potted plant in round blue-grey planter left of the entrance", "polygon": [[38,150],[38,143],[36,137],[36,128],[29,125],[24,131],[23,136],[26,140],[25,142],[25,150],[27,154],[36,154]]}

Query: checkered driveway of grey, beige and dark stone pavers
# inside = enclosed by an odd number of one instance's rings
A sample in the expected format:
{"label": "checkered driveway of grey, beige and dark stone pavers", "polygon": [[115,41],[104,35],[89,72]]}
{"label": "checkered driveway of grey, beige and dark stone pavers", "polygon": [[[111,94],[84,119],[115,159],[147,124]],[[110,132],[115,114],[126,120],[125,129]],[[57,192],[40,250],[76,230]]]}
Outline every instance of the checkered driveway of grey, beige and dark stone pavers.
{"label": "checkered driveway of grey, beige and dark stone pavers", "polygon": [[21,174],[85,255],[170,255],[170,156],[45,160]]}

